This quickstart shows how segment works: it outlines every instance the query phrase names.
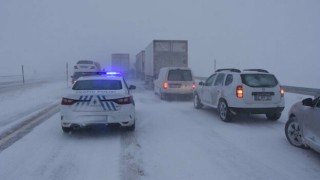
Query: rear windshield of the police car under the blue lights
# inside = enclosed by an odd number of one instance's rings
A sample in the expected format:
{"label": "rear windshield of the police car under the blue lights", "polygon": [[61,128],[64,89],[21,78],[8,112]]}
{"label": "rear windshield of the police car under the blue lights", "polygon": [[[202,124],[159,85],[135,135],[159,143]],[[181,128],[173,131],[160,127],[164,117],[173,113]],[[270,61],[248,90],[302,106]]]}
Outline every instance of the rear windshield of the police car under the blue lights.
{"label": "rear windshield of the police car under the blue lights", "polygon": [[72,87],[73,90],[120,90],[121,80],[80,80]]}

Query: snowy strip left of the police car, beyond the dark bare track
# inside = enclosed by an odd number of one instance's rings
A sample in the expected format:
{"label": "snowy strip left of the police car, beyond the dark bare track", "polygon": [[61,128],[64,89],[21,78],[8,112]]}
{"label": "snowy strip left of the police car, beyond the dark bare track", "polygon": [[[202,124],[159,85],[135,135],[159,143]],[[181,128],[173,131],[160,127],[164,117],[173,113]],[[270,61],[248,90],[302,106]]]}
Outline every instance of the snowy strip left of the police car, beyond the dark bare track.
{"label": "snowy strip left of the police car, beyond the dark bare track", "polygon": [[10,131],[45,108],[57,104],[64,91],[63,81],[39,82],[0,93],[0,134]]}

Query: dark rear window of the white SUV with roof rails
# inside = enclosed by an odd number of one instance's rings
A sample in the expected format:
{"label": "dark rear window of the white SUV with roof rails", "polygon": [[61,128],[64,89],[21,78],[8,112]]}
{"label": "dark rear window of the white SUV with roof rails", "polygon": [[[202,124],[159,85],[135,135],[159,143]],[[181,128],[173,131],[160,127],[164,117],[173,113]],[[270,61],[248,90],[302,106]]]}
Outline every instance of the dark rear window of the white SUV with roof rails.
{"label": "dark rear window of the white SUV with roof rails", "polygon": [[272,74],[241,74],[242,83],[250,87],[275,87],[278,85]]}

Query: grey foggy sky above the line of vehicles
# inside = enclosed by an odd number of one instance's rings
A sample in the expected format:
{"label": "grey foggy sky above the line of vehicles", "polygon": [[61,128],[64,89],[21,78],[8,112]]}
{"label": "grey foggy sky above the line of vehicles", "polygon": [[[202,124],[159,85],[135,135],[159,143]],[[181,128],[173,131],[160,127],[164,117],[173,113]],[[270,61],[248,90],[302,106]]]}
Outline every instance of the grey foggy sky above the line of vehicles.
{"label": "grey foggy sky above the line of vehicles", "polygon": [[[188,40],[198,76],[264,68],[320,88],[318,0],[1,0],[0,75],[65,73],[66,63],[135,55],[154,39]],[[308,80],[306,80],[309,78]]]}

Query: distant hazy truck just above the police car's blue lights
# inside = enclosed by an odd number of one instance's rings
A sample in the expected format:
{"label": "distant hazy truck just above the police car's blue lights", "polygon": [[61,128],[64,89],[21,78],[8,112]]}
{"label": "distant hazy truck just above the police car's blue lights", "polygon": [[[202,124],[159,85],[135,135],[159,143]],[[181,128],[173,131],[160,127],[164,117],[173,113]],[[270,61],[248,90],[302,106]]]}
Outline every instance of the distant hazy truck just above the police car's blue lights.
{"label": "distant hazy truck just above the police car's blue lights", "polygon": [[120,72],[123,76],[129,75],[130,55],[127,53],[114,53],[111,55],[111,68]]}

